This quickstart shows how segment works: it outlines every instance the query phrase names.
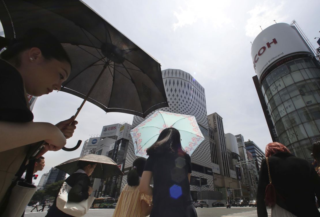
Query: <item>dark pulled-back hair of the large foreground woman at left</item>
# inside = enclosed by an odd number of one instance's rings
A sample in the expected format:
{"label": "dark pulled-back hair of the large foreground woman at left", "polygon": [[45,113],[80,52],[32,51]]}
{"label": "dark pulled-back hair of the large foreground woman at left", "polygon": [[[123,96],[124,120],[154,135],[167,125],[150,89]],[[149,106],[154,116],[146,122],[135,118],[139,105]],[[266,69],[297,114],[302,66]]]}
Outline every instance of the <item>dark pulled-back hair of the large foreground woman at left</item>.
{"label": "dark pulled-back hair of the large foreground woman at left", "polygon": [[71,60],[58,39],[40,28],[29,29],[21,38],[12,39],[0,57],[4,60],[14,59],[16,66],[20,66],[20,52],[32,47],[39,48],[47,60],[66,61],[71,65]]}

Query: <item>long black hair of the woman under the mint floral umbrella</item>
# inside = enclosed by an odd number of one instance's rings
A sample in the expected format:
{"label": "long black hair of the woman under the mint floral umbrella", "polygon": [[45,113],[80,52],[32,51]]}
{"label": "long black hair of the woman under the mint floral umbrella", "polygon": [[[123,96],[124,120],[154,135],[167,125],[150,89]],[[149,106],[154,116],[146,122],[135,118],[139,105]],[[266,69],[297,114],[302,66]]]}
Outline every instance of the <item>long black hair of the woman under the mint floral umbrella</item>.
{"label": "long black hair of the woman under the mint floral umbrella", "polygon": [[164,129],[157,141],[147,149],[147,155],[177,152],[186,153],[181,146],[180,133],[173,127]]}

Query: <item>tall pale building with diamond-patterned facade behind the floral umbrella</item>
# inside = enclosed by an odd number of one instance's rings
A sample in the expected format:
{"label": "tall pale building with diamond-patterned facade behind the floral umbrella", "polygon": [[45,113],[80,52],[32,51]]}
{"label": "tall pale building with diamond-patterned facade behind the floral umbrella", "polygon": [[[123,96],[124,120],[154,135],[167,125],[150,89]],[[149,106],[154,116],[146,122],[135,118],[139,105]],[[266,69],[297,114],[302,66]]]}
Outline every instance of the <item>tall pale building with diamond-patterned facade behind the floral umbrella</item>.
{"label": "tall pale building with diamond-patterned facade behind the floral umbrella", "polygon": [[[180,69],[163,70],[162,77],[169,107],[158,110],[195,116],[200,130],[205,137],[205,140],[191,155],[191,196],[194,200],[200,199],[201,191],[214,190],[212,157],[204,88],[193,76]],[[148,117],[154,112],[150,113]],[[144,120],[145,119],[141,117],[134,116],[132,127],[139,125]],[[129,141],[124,171],[131,169],[134,159],[136,159],[136,156],[134,154],[133,142],[131,140]],[[123,177],[121,190],[125,184],[126,175]]]}

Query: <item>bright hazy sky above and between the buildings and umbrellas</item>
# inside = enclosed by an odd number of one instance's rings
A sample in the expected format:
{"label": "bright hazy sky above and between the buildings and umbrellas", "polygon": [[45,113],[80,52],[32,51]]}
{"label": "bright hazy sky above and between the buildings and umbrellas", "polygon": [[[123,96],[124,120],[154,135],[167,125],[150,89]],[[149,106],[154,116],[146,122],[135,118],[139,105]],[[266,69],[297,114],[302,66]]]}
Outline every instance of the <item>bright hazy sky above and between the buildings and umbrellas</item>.
{"label": "bright hazy sky above and between the buildings and umbrellas", "polygon": [[[104,1],[84,0],[94,11],[148,52],[161,69],[174,68],[190,73],[205,89],[207,113],[223,118],[225,133],[242,134],[264,150],[272,142],[252,76],[251,43],[261,28],[296,20],[314,47],[320,37],[320,2],[305,1]],[[261,28],[260,28],[261,26]],[[0,32],[2,28],[0,28]],[[82,99],[65,92],[38,97],[34,121],[56,124],[75,114]],[[86,102],[77,121],[73,147],[100,134],[104,125],[132,123],[132,115],[105,113]],[[79,157],[73,152],[48,152],[45,168]]]}

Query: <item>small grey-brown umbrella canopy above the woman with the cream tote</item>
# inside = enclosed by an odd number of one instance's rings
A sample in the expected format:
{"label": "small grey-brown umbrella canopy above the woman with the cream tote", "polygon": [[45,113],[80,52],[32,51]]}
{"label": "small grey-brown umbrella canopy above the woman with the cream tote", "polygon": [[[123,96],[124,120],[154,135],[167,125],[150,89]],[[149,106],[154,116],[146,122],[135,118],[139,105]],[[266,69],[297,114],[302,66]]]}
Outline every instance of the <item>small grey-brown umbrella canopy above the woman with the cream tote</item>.
{"label": "small grey-brown umbrella canopy above the woman with the cream tote", "polygon": [[55,168],[58,168],[59,170],[71,175],[79,169],[77,166],[78,161],[97,162],[97,166],[91,175],[92,178],[106,179],[112,176],[123,175],[116,162],[114,162],[110,157],[95,154],[88,154],[83,157],[73,158],[62,164],[59,164],[58,166],[55,166]]}

